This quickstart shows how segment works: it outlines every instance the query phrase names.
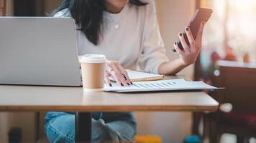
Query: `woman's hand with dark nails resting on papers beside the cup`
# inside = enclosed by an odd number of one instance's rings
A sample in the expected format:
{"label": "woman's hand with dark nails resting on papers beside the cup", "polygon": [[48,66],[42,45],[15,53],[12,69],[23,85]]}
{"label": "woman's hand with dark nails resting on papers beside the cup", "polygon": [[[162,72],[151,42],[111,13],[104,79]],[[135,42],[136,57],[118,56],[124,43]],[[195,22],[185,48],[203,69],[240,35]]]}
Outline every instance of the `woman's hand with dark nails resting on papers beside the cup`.
{"label": "woman's hand with dark nails resting on papers beside the cup", "polygon": [[117,61],[106,62],[105,82],[112,87],[109,77],[112,77],[112,79],[122,87],[132,85],[132,81],[129,79],[127,71],[125,71]]}

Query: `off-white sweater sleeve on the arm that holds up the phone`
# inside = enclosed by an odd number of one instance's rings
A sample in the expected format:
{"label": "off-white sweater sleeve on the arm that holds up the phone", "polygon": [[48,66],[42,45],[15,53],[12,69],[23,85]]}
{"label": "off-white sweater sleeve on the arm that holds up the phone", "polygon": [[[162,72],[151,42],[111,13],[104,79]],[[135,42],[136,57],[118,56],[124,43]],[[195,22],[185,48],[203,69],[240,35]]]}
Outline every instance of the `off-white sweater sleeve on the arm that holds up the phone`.
{"label": "off-white sweater sleeve on the arm that holds up the phone", "polygon": [[157,23],[155,1],[148,2],[145,11],[145,26],[142,34],[142,54],[139,66],[147,72],[158,74],[160,64],[169,61]]}

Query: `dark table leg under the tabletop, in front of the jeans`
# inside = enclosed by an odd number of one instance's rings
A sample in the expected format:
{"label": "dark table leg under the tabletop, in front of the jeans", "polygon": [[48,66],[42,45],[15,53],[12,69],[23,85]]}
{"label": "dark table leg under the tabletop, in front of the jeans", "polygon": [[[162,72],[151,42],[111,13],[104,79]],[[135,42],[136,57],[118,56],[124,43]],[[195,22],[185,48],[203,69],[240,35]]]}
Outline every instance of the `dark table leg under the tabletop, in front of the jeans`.
{"label": "dark table leg under the tabletop, in front of the jeans", "polygon": [[76,112],[76,142],[91,142],[91,112]]}

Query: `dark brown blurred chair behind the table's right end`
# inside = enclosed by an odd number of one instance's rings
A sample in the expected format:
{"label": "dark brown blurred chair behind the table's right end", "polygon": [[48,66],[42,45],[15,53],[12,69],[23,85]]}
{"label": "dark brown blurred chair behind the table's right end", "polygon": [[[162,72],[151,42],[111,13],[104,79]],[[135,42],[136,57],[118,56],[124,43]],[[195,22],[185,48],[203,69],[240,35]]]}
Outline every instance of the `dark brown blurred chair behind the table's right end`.
{"label": "dark brown blurred chair behind the table's right end", "polygon": [[[216,72],[218,75],[218,72]],[[219,142],[221,134],[237,135],[237,142],[249,142],[256,137],[256,64],[219,61],[219,76],[214,77],[214,99],[220,104],[232,104],[230,112],[206,114],[210,142]]]}

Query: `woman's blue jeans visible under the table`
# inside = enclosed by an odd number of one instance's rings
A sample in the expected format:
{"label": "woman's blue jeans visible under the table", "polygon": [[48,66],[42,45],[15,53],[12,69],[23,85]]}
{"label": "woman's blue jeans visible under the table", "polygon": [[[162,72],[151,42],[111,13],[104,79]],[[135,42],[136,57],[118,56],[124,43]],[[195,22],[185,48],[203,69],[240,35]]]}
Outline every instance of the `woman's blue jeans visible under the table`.
{"label": "woman's blue jeans visible under the table", "polygon": [[[131,112],[93,112],[92,141],[132,142],[136,134],[136,122]],[[49,142],[75,142],[75,114],[47,112],[45,133]]]}

